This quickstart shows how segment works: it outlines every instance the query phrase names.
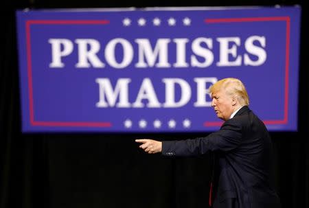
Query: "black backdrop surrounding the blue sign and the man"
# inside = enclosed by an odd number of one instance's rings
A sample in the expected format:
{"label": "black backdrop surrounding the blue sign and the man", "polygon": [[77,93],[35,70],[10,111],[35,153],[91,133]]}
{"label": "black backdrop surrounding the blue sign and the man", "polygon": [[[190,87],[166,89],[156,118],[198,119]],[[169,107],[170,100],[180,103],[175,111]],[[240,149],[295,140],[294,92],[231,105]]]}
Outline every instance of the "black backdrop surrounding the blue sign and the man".
{"label": "black backdrop surrounding the blue sign and the man", "polygon": [[[299,131],[271,132],[283,207],[308,203],[308,1],[5,0],[1,4],[0,207],[207,207],[209,159],[148,155],[137,137],[205,134],[22,134],[14,11],[21,8],[294,5],[302,7]],[[267,92],[265,92],[267,93]],[[267,102],[267,101],[265,101]],[[271,105],[271,103],[269,103]]]}

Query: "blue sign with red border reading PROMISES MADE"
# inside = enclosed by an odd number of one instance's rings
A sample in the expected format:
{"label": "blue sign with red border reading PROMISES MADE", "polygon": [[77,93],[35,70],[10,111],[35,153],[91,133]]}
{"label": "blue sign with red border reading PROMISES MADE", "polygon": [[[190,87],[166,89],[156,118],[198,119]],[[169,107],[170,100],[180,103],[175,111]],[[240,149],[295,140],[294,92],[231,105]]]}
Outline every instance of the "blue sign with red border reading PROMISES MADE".
{"label": "blue sign with red border reading PROMISES MADE", "polygon": [[297,130],[300,8],[16,16],[23,132],[217,130],[209,86],[229,77],[268,130]]}

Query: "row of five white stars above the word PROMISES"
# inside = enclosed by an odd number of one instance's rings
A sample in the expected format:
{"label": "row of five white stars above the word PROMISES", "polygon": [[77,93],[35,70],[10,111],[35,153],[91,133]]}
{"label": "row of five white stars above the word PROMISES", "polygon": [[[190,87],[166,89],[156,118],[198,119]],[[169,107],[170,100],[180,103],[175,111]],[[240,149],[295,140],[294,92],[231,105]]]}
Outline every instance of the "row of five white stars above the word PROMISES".
{"label": "row of five white stars above the word PROMISES", "polygon": [[[191,19],[189,17],[185,17],[182,21],[183,21],[183,25],[185,25],[185,26],[190,26],[191,25]],[[174,17],[170,17],[167,20],[167,22],[168,22],[169,26],[175,26],[176,25],[176,19],[174,19]],[[129,19],[128,17],[122,20],[122,24],[125,27],[130,26],[131,23],[132,23],[132,20]],[[161,19],[159,19],[159,17],[156,17],[155,19],[152,19],[152,25],[154,25],[154,26],[160,26],[161,23],[162,23],[162,21],[161,21]],[[139,26],[146,26],[147,21],[144,18],[139,18],[137,20],[137,24]]]}

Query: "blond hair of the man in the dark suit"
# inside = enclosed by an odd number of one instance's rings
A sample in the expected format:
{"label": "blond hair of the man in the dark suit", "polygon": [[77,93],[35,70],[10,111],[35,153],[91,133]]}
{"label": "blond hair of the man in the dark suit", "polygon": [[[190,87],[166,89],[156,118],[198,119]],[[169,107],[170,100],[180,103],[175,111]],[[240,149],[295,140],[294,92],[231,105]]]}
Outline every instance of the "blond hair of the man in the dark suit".
{"label": "blond hair of the man in the dark suit", "polygon": [[216,93],[224,89],[227,95],[236,96],[236,99],[242,106],[249,105],[249,96],[244,84],[236,78],[225,78],[219,80],[209,88],[210,93]]}

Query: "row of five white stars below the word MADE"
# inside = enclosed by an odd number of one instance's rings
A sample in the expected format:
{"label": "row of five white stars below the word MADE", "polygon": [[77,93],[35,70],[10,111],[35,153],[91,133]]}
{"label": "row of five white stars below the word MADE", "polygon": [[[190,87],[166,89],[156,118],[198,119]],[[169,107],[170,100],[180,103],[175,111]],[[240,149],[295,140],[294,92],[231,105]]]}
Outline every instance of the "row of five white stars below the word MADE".
{"label": "row of five white stars below the word MADE", "polygon": [[[145,119],[139,120],[138,124],[139,124],[139,128],[146,128],[148,125]],[[161,128],[162,122],[159,119],[155,119],[155,121],[152,122],[152,125],[155,128]],[[126,119],[124,121],[125,128],[131,128],[132,126],[133,126],[133,122],[130,119]],[[190,128],[190,126],[191,126],[191,121],[189,119],[184,119],[183,128]],[[168,128],[176,128],[176,121],[174,119],[170,119],[170,121],[168,121]]]}

